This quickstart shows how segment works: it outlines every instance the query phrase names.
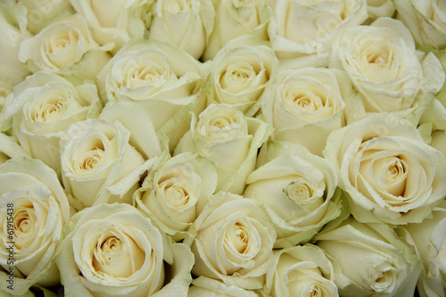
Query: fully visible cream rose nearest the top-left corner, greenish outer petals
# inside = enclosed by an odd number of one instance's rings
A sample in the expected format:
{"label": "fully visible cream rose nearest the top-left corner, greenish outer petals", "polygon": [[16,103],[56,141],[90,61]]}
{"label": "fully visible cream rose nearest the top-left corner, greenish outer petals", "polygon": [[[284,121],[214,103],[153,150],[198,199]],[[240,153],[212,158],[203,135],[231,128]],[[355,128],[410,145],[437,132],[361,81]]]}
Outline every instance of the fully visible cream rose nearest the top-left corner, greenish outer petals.
{"label": "fully visible cream rose nearest the top-left corner, greenish outer petals", "polygon": [[95,79],[110,60],[106,51],[111,47],[99,47],[85,19],[76,13],[55,19],[36,36],[23,39],[19,61],[32,72],[51,70]]}

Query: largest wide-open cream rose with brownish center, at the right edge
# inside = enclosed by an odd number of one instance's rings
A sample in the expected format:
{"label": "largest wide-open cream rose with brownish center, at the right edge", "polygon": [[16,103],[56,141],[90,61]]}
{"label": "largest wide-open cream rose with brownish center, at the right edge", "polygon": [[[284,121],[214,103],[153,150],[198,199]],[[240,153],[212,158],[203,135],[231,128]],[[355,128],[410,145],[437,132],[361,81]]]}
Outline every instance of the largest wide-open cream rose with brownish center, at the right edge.
{"label": "largest wide-open cream rose with brownish center, at the right edge", "polygon": [[446,158],[417,128],[376,113],[328,136],[326,160],[338,171],[351,213],[362,222],[421,222],[446,192]]}

